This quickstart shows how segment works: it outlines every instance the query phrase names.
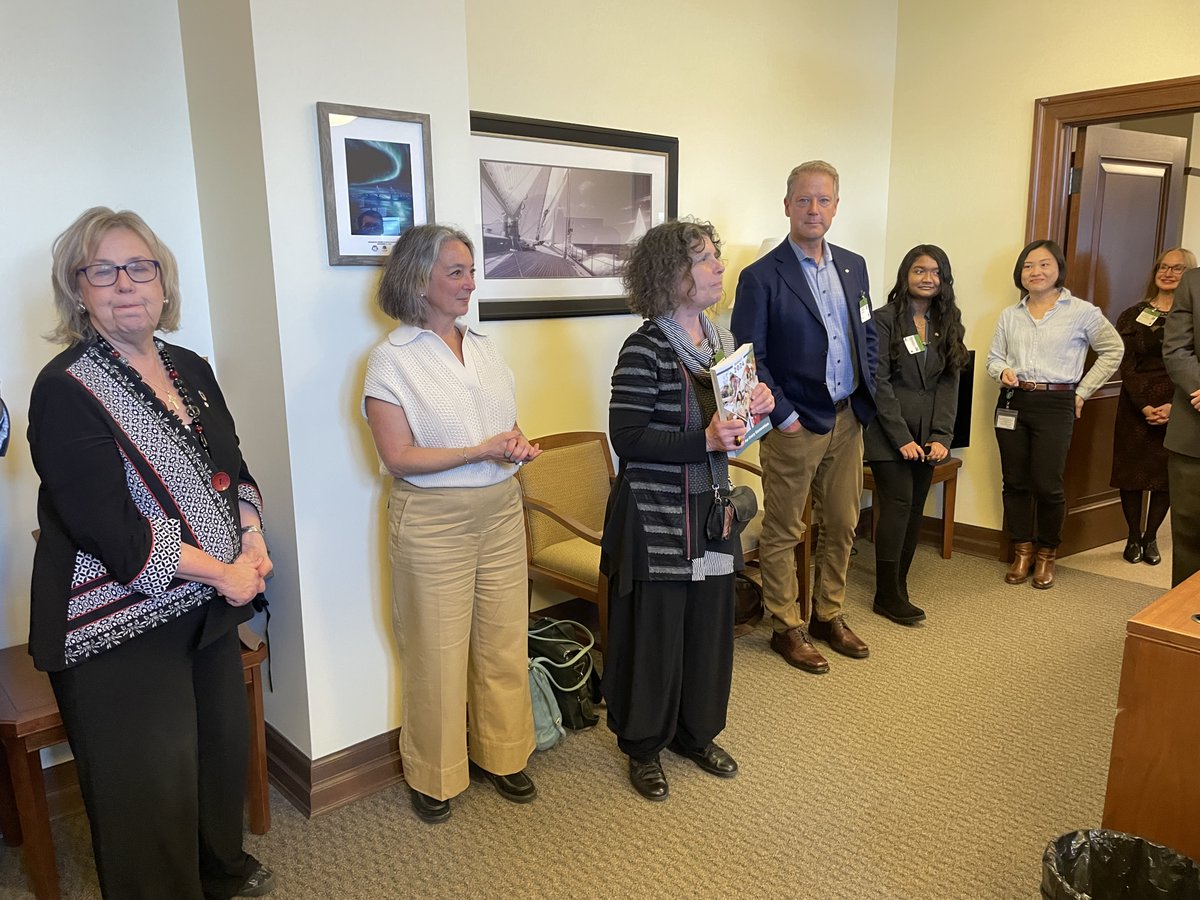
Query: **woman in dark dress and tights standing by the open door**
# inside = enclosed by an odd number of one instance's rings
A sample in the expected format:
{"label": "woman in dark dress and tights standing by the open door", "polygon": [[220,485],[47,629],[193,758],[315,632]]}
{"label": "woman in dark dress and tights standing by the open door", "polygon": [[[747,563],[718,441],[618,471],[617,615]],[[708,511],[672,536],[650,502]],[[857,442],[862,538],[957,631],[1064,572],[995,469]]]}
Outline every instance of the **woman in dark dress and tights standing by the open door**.
{"label": "woman in dark dress and tights standing by the open door", "polygon": [[[1183,272],[1194,268],[1190,250],[1175,247],[1163,251],[1154,260],[1146,293],[1117,319],[1117,331],[1124,341],[1121,360],[1121,396],[1117,400],[1116,425],[1112,430],[1112,487],[1121,491],[1129,536],[1124,558],[1130,563],[1158,565],[1158,527],[1166,518],[1171,498],[1166,488],[1166,450],[1163,437],[1171,416],[1175,385],[1163,366],[1163,325],[1175,301],[1175,288]],[[1142,494],[1146,524],[1141,522]]]}

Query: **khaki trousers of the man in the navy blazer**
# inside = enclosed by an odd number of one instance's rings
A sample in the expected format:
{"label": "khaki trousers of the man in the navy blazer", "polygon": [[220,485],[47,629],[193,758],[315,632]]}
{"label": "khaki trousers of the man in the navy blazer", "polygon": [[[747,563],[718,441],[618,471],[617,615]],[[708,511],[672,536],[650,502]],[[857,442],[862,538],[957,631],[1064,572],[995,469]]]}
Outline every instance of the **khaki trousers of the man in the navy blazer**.
{"label": "khaki trousers of the man in the navy blazer", "polygon": [[[796,547],[804,540],[804,502],[812,491],[812,521],[821,524],[814,548],[812,600],[816,617],[841,614],[846,572],[863,493],[863,426],[851,408],[838,413],[833,431],[814,434],[800,426],[774,430],[762,442],[763,521],[758,539],[763,605],[776,631],[805,624],[797,600]],[[808,577],[808,572],[802,574]]]}

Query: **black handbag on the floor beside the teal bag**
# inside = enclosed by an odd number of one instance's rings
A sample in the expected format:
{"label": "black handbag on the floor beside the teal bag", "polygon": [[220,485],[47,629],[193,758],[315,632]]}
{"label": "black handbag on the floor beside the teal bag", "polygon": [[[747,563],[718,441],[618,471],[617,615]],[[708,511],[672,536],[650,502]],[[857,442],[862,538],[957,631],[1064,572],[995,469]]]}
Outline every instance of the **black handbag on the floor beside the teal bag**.
{"label": "black handbag on the floor beside the teal bag", "polygon": [[[582,640],[581,640],[582,638]],[[541,660],[558,700],[563,725],[572,731],[600,721],[600,677],[592,665],[595,638],[577,622],[542,617],[529,624],[529,658]]]}

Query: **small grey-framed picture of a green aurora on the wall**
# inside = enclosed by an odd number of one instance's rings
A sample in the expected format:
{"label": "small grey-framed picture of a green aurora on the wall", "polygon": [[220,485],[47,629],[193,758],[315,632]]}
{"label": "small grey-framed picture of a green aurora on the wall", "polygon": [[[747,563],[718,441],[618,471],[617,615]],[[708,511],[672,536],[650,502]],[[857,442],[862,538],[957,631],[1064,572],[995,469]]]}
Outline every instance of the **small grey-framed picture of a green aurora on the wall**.
{"label": "small grey-framed picture of a green aurora on the wall", "polygon": [[330,265],[383,265],[414,224],[433,221],[430,116],[317,104]]}

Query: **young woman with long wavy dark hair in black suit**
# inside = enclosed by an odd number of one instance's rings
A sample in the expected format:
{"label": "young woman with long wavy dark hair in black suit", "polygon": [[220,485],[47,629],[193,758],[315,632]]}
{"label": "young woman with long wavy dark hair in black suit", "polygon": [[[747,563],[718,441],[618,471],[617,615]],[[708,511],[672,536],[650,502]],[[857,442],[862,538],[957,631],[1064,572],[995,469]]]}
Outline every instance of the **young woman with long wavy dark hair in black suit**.
{"label": "young woman with long wavy dark hair in black suit", "polygon": [[946,251],[920,244],[905,253],[888,302],[875,313],[875,332],[878,415],[863,438],[880,511],[872,608],[913,625],[925,611],[908,599],[908,569],[934,466],[950,455],[959,373],[968,359]]}

